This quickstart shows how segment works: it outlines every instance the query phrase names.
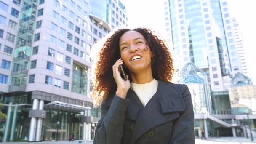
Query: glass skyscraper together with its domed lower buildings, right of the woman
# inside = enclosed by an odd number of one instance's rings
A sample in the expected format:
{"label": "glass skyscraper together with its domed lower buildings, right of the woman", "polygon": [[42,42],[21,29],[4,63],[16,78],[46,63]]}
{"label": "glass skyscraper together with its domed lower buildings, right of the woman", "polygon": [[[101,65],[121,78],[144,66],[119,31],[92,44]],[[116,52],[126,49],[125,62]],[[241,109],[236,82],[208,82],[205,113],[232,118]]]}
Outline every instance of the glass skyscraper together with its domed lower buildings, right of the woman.
{"label": "glass skyscraper together with its domed lower buildings, right of the woman", "polygon": [[[255,128],[255,108],[249,104],[255,93],[243,75],[244,54],[227,0],[163,0],[163,5],[170,13],[164,10],[165,30],[171,26],[179,57],[178,81],[192,94],[195,135],[204,130],[206,136],[246,136],[249,127]],[[250,98],[242,93],[246,88]]]}

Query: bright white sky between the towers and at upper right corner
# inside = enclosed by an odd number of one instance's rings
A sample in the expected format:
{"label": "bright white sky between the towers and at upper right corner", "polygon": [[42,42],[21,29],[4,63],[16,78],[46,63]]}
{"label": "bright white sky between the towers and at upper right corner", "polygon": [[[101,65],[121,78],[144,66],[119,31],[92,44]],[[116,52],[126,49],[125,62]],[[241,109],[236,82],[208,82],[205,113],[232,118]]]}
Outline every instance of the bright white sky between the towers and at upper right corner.
{"label": "bright white sky between the towers and at upper right corner", "polygon": [[[149,27],[159,32],[164,31],[163,0],[121,0],[126,9],[129,27]],[[256,66],[253,59],[256,53],[256,0],[227,0],[229,12],[240,25],[243,43],[251,78],[256,85]]]}

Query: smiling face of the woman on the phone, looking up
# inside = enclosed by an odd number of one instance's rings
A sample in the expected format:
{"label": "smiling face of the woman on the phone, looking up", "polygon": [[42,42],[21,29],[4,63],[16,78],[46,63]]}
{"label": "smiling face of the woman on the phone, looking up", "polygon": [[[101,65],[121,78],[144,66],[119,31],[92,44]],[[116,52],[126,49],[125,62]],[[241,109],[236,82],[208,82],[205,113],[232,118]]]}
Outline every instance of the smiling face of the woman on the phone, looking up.
{"label": "smiling face of the woman on the phone, looking up", "polygon": [[144,72],[151,69],[151,50],[141,33],[136,31],[125,32],[119,40],[121,58],[129,71]]}

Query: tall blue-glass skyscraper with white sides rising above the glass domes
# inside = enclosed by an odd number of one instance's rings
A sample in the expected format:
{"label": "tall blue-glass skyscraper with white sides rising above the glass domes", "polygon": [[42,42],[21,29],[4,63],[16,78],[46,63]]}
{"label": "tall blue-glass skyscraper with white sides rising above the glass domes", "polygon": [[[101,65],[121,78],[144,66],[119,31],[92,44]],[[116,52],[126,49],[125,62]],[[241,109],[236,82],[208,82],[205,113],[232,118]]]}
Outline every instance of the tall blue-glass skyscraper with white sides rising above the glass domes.
{"label": "tall blue-glass skyscraper with white sides rising above the glass domes", "polygon": [[230,76],[242,72],[232,17],[226,0],[169,0],[173,48],[179,65],[195,63],[214,91],[227,90]]}

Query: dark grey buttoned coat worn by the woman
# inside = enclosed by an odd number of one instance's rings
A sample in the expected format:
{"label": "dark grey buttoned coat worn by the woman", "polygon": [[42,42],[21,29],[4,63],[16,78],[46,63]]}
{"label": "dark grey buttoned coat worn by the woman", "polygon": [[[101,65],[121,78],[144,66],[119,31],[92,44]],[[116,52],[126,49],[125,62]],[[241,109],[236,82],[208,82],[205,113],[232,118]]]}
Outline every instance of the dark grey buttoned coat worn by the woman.
{"label": "dark grey buttoned coat worn by the woman", "polygon": [[159,80],[144,107],[133,90],[101,104],[93,144],[195,144],[194,112],[187,85]]}

